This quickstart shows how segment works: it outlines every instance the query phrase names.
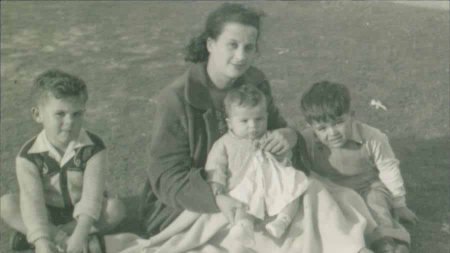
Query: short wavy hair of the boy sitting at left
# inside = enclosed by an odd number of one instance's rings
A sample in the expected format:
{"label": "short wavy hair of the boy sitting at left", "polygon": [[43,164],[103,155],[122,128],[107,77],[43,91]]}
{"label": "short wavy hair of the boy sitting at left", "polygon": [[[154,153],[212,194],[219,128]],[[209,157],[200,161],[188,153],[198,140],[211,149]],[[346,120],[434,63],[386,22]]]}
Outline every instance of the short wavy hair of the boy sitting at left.
{"label": "short wavy hair of the boy sitting at left", "polygon": [[84,81],[77,76],[55,68],[39,74],[34,79],[31,89],[31,95],[36,103],[45,102],[48,93],[58,99],[78,96],[87,101],[87,88]]}

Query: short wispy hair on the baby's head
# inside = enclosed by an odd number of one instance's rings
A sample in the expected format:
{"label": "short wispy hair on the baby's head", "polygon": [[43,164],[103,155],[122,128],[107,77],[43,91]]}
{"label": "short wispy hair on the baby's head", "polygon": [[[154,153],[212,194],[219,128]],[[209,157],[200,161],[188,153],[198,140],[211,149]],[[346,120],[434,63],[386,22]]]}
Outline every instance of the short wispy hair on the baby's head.
{"label": "short wispy hair on the baby's head", "polygon": [[253,85],[244,84],[237,88],[231,89],[223,99],[223,106],[225,107],[226,115],[232,106],[253,107],[263,102],[266,104],[264,93]]}

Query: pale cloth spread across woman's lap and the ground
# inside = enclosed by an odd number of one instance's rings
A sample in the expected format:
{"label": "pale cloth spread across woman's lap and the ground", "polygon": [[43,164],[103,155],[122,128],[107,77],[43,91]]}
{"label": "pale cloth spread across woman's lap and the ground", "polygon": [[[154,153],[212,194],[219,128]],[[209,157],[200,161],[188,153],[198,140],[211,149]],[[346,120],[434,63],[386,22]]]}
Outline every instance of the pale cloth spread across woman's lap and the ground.
{"label": "pale cloth spread across woman's lap and the ground", "polygon": [[[255,245],[244,252],[356,253],[365,246],[364,234],[376,227],[363,199],[353,190],[311,173],[302,206],[286,233],[276,239],[264,230],[273,217],[255,222]],[[105,236],[107,253],[243,252],[227,233],[222,213],[184,211],[173,221],[185,227],[142,239],[131,233]],[[176,227],[176,225],[172,226]],[[367,240],[368,238],[366,238]]]}

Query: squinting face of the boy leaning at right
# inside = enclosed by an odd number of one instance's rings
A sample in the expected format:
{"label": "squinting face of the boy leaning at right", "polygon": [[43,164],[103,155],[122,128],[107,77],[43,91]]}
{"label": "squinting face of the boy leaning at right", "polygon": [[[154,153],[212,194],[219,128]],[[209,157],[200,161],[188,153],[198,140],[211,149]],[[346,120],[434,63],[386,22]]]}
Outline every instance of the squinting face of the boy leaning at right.
{"label": "squinting face of the boy leaning at right", "polygon": [[342,147],[351,134],[351,115],[344,113],[329,122],[312,120],[310,126],[317,138],[330,148]]}

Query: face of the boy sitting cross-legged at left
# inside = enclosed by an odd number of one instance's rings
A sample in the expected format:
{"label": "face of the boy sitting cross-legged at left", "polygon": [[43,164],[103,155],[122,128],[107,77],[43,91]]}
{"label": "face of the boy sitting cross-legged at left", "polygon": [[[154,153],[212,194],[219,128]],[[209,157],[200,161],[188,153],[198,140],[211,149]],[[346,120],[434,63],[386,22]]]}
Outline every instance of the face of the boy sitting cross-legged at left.
{"label": "face of the boy sitting cross-legged at left", "polygon": [[34,120],[42,123],[50,143],[65,151],[68,143],[78,137],[84,118],[84,103],[82,96],[55,98],[48,93],[46,101],[31,111]]}

